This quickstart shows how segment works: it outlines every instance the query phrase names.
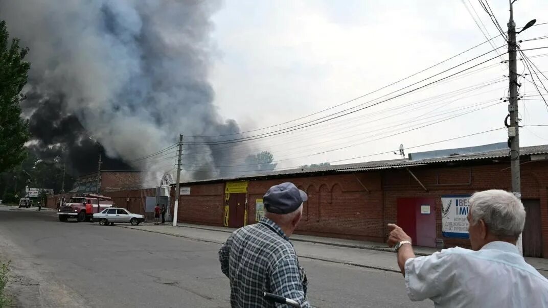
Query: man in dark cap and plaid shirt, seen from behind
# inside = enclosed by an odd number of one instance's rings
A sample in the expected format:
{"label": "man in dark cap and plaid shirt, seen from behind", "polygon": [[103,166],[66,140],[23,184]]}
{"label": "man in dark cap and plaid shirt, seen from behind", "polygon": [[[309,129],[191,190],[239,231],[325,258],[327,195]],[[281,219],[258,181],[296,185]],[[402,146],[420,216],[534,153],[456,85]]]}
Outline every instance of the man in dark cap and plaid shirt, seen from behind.
{"label": "man in dark cap and plaid shirt, seen from behind", "polygon": [[306,275],[289,241],[307,199],[292,183],[270,187],[262,198],[265,215],[259,223],[234,231],[222,244],[219,259],[230,279],[232,307],[275,307],[263,298],[264,292],[310,307]]}

